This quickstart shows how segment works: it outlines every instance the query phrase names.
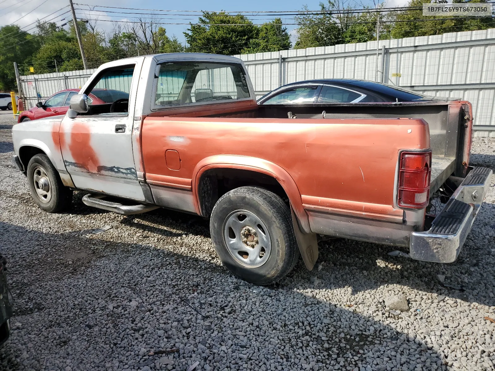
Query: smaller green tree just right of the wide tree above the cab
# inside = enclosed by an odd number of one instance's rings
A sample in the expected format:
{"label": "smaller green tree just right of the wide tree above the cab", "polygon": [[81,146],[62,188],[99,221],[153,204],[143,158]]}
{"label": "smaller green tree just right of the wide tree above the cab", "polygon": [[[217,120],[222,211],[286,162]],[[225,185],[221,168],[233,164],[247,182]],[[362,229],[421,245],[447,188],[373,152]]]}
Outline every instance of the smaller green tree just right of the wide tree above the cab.
{"label": "smaller green tree just right of the wide tree above the cab", "polygon": [[275,18],[271,22],[263,23],[258,28],[257,37],[249,40],[249,44],[242,53],[259,53],[263,51],[279,51],[290,49],[291,37],[286,27],[282,27],[282,19]]}

